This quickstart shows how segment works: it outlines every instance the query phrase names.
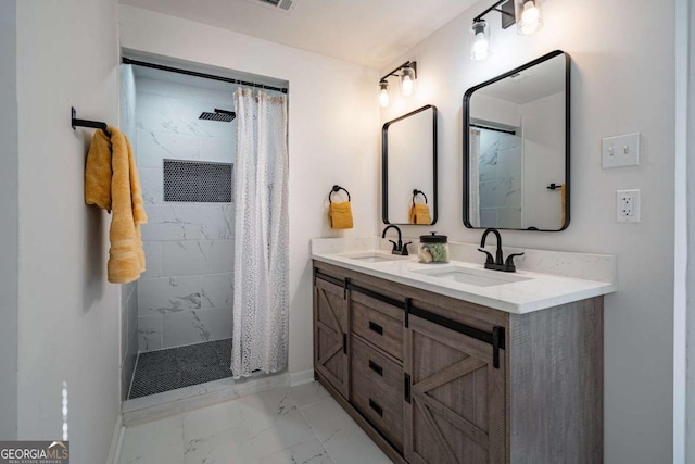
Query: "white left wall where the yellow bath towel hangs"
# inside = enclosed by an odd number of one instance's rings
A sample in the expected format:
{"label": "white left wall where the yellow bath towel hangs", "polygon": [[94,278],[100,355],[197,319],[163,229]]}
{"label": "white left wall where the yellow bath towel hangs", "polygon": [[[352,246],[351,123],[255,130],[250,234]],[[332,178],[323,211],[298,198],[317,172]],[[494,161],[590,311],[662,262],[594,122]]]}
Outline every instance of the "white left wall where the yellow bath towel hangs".
{"label": "white left wall where the yellow bath towel hangs", "polygon": [[[70,391],[75,463],[105,461],[119,409],[119,286],[106,284],[108,214],[84,200],[90,130],[118,123],[117,2],[17,2],[18,437],[61,437]],[[4,143],[4,141],[3,141]]]}

